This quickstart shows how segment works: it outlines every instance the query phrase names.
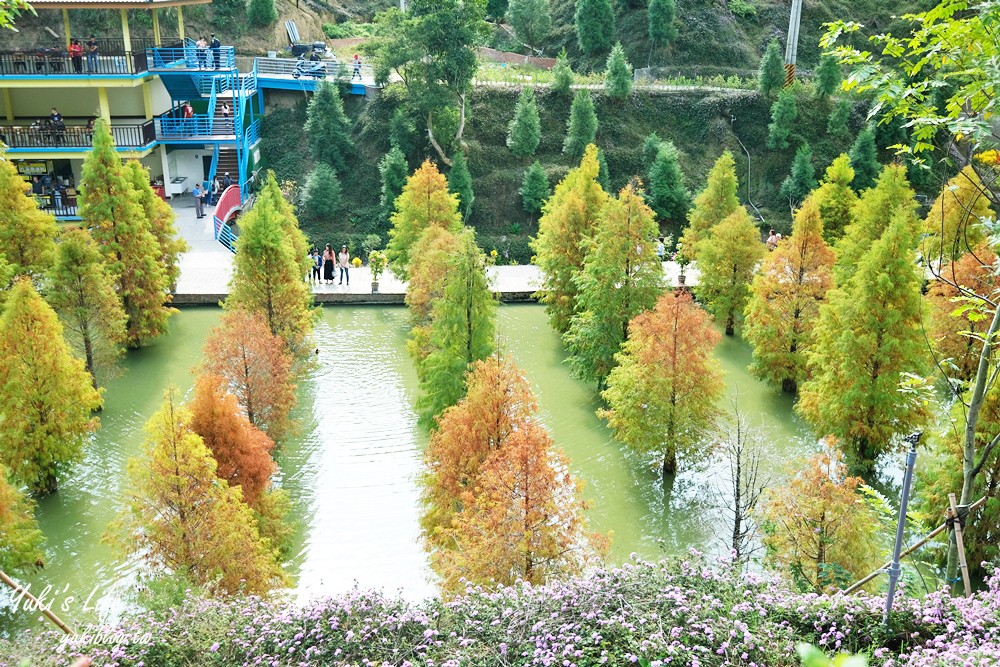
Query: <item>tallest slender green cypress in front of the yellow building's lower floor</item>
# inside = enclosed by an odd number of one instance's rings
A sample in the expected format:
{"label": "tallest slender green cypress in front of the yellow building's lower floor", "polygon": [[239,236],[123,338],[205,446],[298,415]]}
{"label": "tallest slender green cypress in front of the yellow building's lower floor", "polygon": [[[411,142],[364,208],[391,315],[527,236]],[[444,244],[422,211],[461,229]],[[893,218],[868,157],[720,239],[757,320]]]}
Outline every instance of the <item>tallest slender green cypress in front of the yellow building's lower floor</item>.
{"label": "tallest slender green cypress in front of the yellow building's lower floor", "polygon": [[170,296],[163,248],[129,171],[118,157],[110,127],[98,119],[94,148],[83,161],[80,217],[117,282],[128,317],[126,344],[137,348],[166,331],[167,319],[176,311],[166,305]]}

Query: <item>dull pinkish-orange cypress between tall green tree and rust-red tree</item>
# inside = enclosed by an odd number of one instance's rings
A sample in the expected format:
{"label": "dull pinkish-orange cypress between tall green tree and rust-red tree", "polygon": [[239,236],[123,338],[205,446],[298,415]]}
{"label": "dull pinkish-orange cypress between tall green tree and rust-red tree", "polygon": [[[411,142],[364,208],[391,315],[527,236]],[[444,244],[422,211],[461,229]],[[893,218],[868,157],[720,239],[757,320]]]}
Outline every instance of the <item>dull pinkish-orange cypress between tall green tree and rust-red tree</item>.
{"label": "dull pinkish-orange cypress between tall green tree and rust-red tree", "polygon": [[264,318],[234,310],[222,316],[205,343],[203,370],[222,379],[251,424],[281,441],[295,406],[292,354]]}

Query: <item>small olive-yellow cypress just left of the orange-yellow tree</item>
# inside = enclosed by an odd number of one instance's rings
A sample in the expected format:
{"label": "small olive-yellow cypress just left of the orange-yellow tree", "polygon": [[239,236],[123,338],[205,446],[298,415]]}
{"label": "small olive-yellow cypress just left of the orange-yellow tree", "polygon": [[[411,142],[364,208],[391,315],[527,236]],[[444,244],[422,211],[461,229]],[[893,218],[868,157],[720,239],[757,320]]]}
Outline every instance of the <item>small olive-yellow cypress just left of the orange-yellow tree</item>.
{"label": "small olive-yellow cypress just left of the orange-yellow tree", "polygon": [[750,298],[750,281],[766,250],[747,210],[738,207],[698,242],[695,292],[732,336]]}

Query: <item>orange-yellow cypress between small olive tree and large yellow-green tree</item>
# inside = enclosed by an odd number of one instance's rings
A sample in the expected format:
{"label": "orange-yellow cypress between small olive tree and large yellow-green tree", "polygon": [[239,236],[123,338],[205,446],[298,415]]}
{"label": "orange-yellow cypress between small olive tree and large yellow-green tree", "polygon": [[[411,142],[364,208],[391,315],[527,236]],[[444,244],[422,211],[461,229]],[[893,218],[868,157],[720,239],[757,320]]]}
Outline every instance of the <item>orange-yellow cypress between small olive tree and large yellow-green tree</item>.
{"label": "orange-yellow cypress between small olive tree and large yellow-green tree", "polygon": [[792,235],[771,252],[750,286],[743,337],[753,347],[750,371],[782,391],[806,379],[806,360],[820,305],[833,287],[833,250],[823,240],[819,206],[795,213]]}

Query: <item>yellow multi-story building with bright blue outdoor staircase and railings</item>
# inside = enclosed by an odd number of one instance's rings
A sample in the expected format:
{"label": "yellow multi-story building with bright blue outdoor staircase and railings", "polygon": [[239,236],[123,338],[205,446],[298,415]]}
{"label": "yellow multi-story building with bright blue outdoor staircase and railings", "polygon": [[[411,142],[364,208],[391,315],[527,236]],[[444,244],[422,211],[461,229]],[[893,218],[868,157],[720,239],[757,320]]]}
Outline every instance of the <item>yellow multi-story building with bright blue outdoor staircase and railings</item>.
{"label": "yellow multi-story building with bright blue outdoor staircase and railings", "polygon": [[[241,73],[232,46],[199,48],[185,34],[183,8],[208,2],[32,0],[40,14],[61,12],[63,34],[39,37],[31,49],[0,47],[0,141],[26,180],[38,177],[36,195],[56,217],[77,217],[88,123],[98,116],[110,122],[118,151],[140,160],[165,198],[226,172],[246,196],[259,163],[263,96],[256,68]],[[168,7],[176,34],[161,38]],[[74,33],[71,8],[117,10],[120,37]],[[131,37],[128,10],[151,12],[152,38]],[[76,57],[74,40],[82,49]]]}

